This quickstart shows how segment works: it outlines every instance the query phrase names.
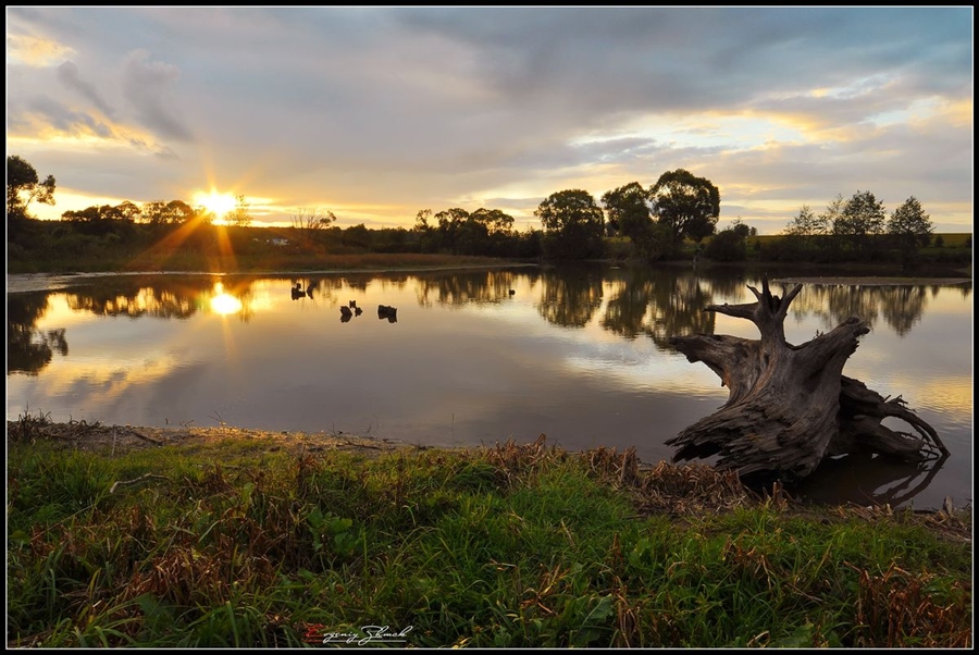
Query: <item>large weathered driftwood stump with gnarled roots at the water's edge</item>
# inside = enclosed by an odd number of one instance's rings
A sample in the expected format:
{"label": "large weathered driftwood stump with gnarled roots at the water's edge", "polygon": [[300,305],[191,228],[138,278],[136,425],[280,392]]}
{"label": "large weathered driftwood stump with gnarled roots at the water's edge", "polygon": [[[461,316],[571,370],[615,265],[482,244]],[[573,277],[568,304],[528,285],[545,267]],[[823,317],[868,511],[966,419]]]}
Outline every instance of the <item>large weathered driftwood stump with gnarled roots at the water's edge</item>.
{"label": "large weathered driftwood stump with gnarled roots at the water's edge", "polygon": [[[760,339],[697,334],[670,343],[691,362],[702,361],[730,391],[715,413],[683,430],[667,445],[678,452],[673,461],[718,455],[715,466],[740,475],[774,473],[788,480],[811,473],[825,457],[873,452],[920,461],[946,457],[949,450],[934,429],[905,407],[842,374],[866,323],[850,318],[831,332],[793,346],[785,341],[784,321],[796,285],[783,297],[773,296],[768,279],[757,298],[744,305],[710,305],[714,311],[752,321]],[[881,424],[896,417],[917,435]]]}

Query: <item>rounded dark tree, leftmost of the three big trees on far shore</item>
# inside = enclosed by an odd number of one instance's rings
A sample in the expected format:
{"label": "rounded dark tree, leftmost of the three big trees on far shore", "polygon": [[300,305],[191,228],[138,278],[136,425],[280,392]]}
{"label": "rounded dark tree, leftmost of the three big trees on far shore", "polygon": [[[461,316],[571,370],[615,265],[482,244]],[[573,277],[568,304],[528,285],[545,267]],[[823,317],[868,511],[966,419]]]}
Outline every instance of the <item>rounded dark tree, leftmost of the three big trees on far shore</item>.
{"label": "rounded dark tree, leftmost of the three big trees on far shore", "polygon": [[595,198],[582,189],[548,196],[534,215],[544,226],[544,251],[557,259],[588,259],[602,255],[605,214]]}

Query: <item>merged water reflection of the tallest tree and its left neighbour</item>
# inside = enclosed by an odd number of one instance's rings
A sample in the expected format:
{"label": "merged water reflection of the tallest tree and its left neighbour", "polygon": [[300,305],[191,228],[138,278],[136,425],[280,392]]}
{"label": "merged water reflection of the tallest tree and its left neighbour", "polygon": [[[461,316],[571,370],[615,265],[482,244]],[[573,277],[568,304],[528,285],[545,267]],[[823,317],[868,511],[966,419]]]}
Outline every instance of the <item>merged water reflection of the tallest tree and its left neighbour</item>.
{"label": "merged water reflection of the tallest tree and its left neighbour", "polygon": [[672,349],[671,336],[714,333],[714,313],[703,311],[712,298],[711,285],[693,273],[629,269],[616,284],[602,326],[629,338],[646,334]]}

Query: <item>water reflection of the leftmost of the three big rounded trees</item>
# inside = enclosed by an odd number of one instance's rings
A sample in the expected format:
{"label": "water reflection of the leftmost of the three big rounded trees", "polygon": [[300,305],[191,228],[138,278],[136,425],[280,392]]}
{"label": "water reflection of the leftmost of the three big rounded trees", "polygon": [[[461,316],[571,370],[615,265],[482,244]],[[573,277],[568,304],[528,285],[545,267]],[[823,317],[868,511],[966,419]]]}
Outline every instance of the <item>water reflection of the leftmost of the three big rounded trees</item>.
{"label": "water reflection of the leftmost of the three big rounded trees", "polygon": [[602,306],[603,275],[587,269],[554,269],[541,276],[537,311],[548,323],[584,328]]}

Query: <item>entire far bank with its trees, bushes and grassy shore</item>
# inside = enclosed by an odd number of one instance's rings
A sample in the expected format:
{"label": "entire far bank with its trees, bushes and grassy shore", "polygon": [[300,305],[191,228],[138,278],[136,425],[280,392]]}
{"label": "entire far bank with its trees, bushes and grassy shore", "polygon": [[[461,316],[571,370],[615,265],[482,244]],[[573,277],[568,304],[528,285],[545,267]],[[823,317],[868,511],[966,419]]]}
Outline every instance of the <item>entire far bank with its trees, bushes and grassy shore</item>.
{"label": "entire far bank with its trees, bushes and grassy shore", "polygon": [[[804,206],[778,235],[758,235],[740,219],[717,231],[720,190],[706,177],[668,171],[605,193],[552,194],[534,211],[540,227],[515,227],[500,209],[420,210],[411,228],[340,227],[319,208],[297,208],[286,226],[258,227],[245,196],[223,215],[183,200],[92,206],[39,221],[30,202],[53,203],[55,181],[41,181],[8,157],[8,272],[272,272],[372,267],[409,268],[422,257],[494,260],[875,263],[962,268],[971,263],[970,233],[934,234],[910,196],[890,217],[870,191],[842,195],[817,213]],[[384,260],[384,263],[376,263]],[[423,263],[420,265],[429,265]]]}

